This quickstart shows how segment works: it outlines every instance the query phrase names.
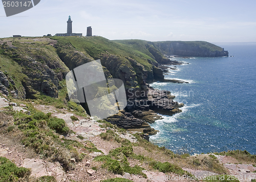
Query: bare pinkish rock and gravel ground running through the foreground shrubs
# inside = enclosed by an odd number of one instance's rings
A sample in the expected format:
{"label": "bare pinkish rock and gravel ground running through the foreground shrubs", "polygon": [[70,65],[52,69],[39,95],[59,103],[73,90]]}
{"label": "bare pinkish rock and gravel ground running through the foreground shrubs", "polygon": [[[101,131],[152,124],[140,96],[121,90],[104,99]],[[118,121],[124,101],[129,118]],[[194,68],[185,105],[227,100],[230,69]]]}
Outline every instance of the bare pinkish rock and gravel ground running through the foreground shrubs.
{"label": "bare pinkish rock and gravel ground running through the foreground shrubs", "polygon": [[[0,97],[0,110],[6,110],[7,107],[12,107],[14,111],[21,111],[21,112],[28,112],[26,105],[20,104],[17,106],[16,103],[8,101],[4,97]],[[92,142],[97,149],[101,150],[101,152],[91,152],[87,158],[83,159],[81,162],[77,163],[75,159],[71,159],[76,167],[74,170],[65,171],[58,162],[49,162],[43,159],[40,159],[40,156],[33,152],[33,150],[28,150],[24,145],[15,141],[15,138],[19,136],[11,136],[11,137],[2,137],[0,140],[0,156],[6,157],[12,160],[18,167],[26,167],[31,168],[32,176],[39,177],[44,175],[55,176],[57,181],[100,181],[107,178],[115,178],[121,177],[133,180],[135,182],[162,182],[162,181],[187,181],[187,178],[179,176],[178,174],[170,173],[170,175],[166,175],[163,172],[157,172],[155,170],[147,171],[143,170],[142,172],[146,174],[147,178],[143,178],[140,175],[134,175],[129,173],[124,173],[123,175],[120,174],[113,174],[108,170],[101,168],[100,162],[95,162],[93,159],[97,155],[105,155],[108,154],[111,149],[115,149],[121,146],[121,144],[111,141],[103,140],[99,137],[99,134],[105,133],[106,129],[111,128],[102,128],[100,127],[100,123],[93,120],[92,118],[84,118],[81,116],[75,115],[79,119],[79,121],[72,121],[70,118],[74,116],[73,113],[69,112],[67,109],[56,109],[53,106],[45,106],[45,105],[36,105],[34,107],[42,111],[44,113],[51,112],[52,116],[57,118],[61,118],[66,121],[66,124],[70,129],[72,129],[75,134],[70,134],[66,137],[72,140],[77,140],[77,136],[80,135],[83,137],[83,142],[90,141]],[[133,132],[126,132],[119,134],[119,137],[126,138],[133,143],[137,142],[137,139],[131,134]],[[140,148],[138,145],[137,147]],[[201,155],[201,154],[198,154]],[[207,155],[207,154],[204,154]],[[222,155],[215,155],[218,161],[224,165],[225,168],[228,169],[229,173],[234,176],[241,176],[239,179],[240,181],[251,181],[250,177],[256,175],[253,171],[256,170],[256,167],[252,165],[246,164],[238,164],[234,158],[226,157]],[[136,163],[136,161],[133,161]],[[131,162],[132,164],[132,162]],[[138,164],[133,164],[138,165]],[[143,166],[144,164],[139,164]],[[97,170],[93,170],[91,166],[99,166]],[[182,167],[182,166],[181,166]],[[207,177],[210,175],[218,175],[217,173],[204,171],[204,170],[195,170],[189,168],[183,168],[183,170],[190,172],[191,174],[197,177]],[[256,178],[254,176],[254,178]],[[201,180],[199,180],[201,181]]]}

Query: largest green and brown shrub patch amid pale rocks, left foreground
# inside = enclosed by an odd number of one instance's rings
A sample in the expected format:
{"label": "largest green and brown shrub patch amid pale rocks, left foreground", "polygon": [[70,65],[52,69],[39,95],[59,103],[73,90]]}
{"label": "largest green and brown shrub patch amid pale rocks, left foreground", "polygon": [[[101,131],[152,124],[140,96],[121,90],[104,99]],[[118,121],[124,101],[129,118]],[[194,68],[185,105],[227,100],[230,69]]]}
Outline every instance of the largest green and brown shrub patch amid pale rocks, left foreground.
{"label": "largest green and brown shrub patch amid pale rocks, left foreground", "polygon": [[[65,170],[74,167],[70,159],[75,158],[78,162],[82,159],[77,149],[87,150],[86,146],[75,140],[60,138],[59,134],[69,132],[63,119],[42,112],[33,112],[31,115],[21,112],[12,114],[14,125],[23,133],[22,143],[26,147],[32,147],[42,158],[58,161]],[[95,150],[95,147],[92,148]]]}

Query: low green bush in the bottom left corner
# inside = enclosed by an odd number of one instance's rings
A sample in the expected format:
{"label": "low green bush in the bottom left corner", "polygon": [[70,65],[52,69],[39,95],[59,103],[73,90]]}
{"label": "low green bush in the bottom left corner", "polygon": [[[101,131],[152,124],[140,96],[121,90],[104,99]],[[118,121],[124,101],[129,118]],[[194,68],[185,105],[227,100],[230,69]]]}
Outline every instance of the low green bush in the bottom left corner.
{"label": "low green bush in the bottom left corner", "polygon": [[0,182],[26,180],[30,174],[30,169],[17,167],[8,159],[0,157]]}

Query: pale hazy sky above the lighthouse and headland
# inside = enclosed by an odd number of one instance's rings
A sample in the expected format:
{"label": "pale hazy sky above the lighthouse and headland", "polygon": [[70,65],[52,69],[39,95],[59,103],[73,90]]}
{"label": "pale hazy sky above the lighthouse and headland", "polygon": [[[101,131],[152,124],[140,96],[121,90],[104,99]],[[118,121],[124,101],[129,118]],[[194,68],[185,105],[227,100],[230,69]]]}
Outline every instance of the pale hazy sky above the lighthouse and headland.
{"label": "pale hazy sky above the lighthouse and headland", "polygon": [[[10,0],[9,0],[10,1]],[[0,6],[0,37],[73,33],[108,39],[256,42],[255,0],[41,0],[6,17]]]}

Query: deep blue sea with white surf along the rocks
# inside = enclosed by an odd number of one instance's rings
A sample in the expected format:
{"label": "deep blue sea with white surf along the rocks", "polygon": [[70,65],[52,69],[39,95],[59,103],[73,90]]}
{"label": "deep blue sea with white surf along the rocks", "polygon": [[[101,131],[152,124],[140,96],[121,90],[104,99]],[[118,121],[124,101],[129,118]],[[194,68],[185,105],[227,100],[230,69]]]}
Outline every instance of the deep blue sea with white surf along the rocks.
{"label": "deep blue sea with white surf along the rocks", "polygon": [[151,84],[185,104],[182,113],[151,124],[160,131],[151,142],[178,153],[240,149],[256,154],[256,43],[217,45],[234,57],[179,58],[189,64],[169,70],[165,79],[189,84]]}

